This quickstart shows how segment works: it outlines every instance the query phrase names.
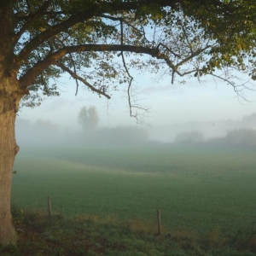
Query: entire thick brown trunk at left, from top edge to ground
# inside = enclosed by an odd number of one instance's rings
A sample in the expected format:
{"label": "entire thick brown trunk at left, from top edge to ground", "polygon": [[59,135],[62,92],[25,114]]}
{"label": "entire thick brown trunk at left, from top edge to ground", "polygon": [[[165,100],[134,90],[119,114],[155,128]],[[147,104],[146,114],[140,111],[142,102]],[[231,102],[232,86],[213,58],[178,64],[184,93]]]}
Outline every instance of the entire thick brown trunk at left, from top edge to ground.
{"label": "entire thick brown trunk at left, from top edge to ground", "polygon": [[11,183],[15,155],[15,117],[24,96],[17,81],[15,61],[16,18],[13,0],[0,0],[0,244],[15,244],[17,235],[10,212]]}

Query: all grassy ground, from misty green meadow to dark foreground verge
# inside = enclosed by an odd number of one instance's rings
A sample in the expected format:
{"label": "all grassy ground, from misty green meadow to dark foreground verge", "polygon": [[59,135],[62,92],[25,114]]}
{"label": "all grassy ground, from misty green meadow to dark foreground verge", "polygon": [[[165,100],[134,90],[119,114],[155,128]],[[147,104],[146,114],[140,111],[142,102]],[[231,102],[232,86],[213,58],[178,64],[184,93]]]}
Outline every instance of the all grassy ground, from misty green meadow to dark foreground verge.
{"label": "all grassy ground, from misty green meadow to dark foreground verge", "polygon": [[12,191],[20,241],[0,255],[253,256],[255,166],[246,149],[21,151]]}

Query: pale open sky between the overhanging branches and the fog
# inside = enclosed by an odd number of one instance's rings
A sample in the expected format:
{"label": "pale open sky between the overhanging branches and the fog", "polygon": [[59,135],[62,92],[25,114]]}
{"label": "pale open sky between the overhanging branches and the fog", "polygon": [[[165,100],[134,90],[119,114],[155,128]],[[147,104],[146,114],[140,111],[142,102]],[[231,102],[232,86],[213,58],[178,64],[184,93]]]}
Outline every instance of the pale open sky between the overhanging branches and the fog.
{"label": "pale open sky between the overhanging branches and the fog", "polygon": [[[189,122],[214,122],[223,119],[241,119],[256,112],[256,92],[245,91],[247,101],[238,99],[230,85],[211,78],[188,79],[185,84],[171,84],[171,78],[155,82],[148,73],[136,75],[133,86],[138,92],[138,103],[149,108],[144,118],[148,129]],[[112,99],[99,97],[86,89],[75,96],[73,79],[63,78],[58,84],[61,96],[48,97],[37,108],[22,108],[20,119],[48,119],[63,128],[79,129],[78,114],[82,107],[96,106],[99,126],[137,125],[129,115],[124,88],[114,91]],[[256,88],[256,87],[255,87]]]}

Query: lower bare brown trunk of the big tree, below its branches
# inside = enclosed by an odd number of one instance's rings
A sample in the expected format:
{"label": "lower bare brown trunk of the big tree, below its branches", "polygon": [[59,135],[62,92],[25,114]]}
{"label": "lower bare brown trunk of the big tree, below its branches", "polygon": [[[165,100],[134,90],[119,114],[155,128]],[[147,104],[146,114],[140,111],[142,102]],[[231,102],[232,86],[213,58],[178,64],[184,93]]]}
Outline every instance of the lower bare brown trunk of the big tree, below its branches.
{"label": "lower bare brown trunk of the big tree, below its branches", "polygon": [[11,183],[15,155],[15,117],[20,97],[0,91],[0,244],[15,244],[18,236],[10,212]]}

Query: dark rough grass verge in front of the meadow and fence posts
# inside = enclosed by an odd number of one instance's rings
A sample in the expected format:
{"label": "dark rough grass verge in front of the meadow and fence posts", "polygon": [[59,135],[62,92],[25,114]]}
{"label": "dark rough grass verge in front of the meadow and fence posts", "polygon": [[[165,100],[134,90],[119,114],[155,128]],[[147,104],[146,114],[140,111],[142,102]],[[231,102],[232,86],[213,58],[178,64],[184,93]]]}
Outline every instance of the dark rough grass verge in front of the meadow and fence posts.
{"label": "dark rough grass verge in front of the meadow and fence posts", "polygon": [[154,225],[139,220],[61,214],[45,217],[38,210],[13,208],[18,247],[1,247],[1,256],[253,256],[256,231],[224,236],[218,230],[198,233],[178,229],[158,236]]}

